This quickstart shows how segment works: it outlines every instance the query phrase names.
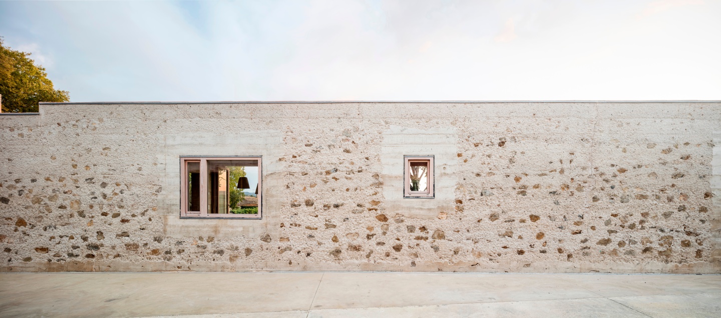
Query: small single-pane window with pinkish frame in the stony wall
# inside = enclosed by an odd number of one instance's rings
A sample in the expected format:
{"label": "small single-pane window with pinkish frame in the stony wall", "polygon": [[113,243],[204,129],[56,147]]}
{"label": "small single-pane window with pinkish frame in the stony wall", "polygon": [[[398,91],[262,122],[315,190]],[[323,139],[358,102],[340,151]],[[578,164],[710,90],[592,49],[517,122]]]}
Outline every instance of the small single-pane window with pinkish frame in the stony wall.
{"label": "small single-pane window with pinkish frame in the stony wall", "polygon": [[403,159],[403,196],[433,199],[433,156],[406,155]]}

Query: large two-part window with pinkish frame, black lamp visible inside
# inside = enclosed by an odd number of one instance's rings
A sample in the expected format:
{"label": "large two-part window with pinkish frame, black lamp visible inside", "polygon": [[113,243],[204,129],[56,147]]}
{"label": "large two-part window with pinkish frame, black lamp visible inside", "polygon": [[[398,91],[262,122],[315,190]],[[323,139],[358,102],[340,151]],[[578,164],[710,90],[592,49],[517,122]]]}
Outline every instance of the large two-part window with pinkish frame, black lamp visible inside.
{"label": "large two-part window with pinkish frame, black lamp visible inside", "polygon": [[180,158],[180,217],[260,219],[261,171],[260,157]]}

